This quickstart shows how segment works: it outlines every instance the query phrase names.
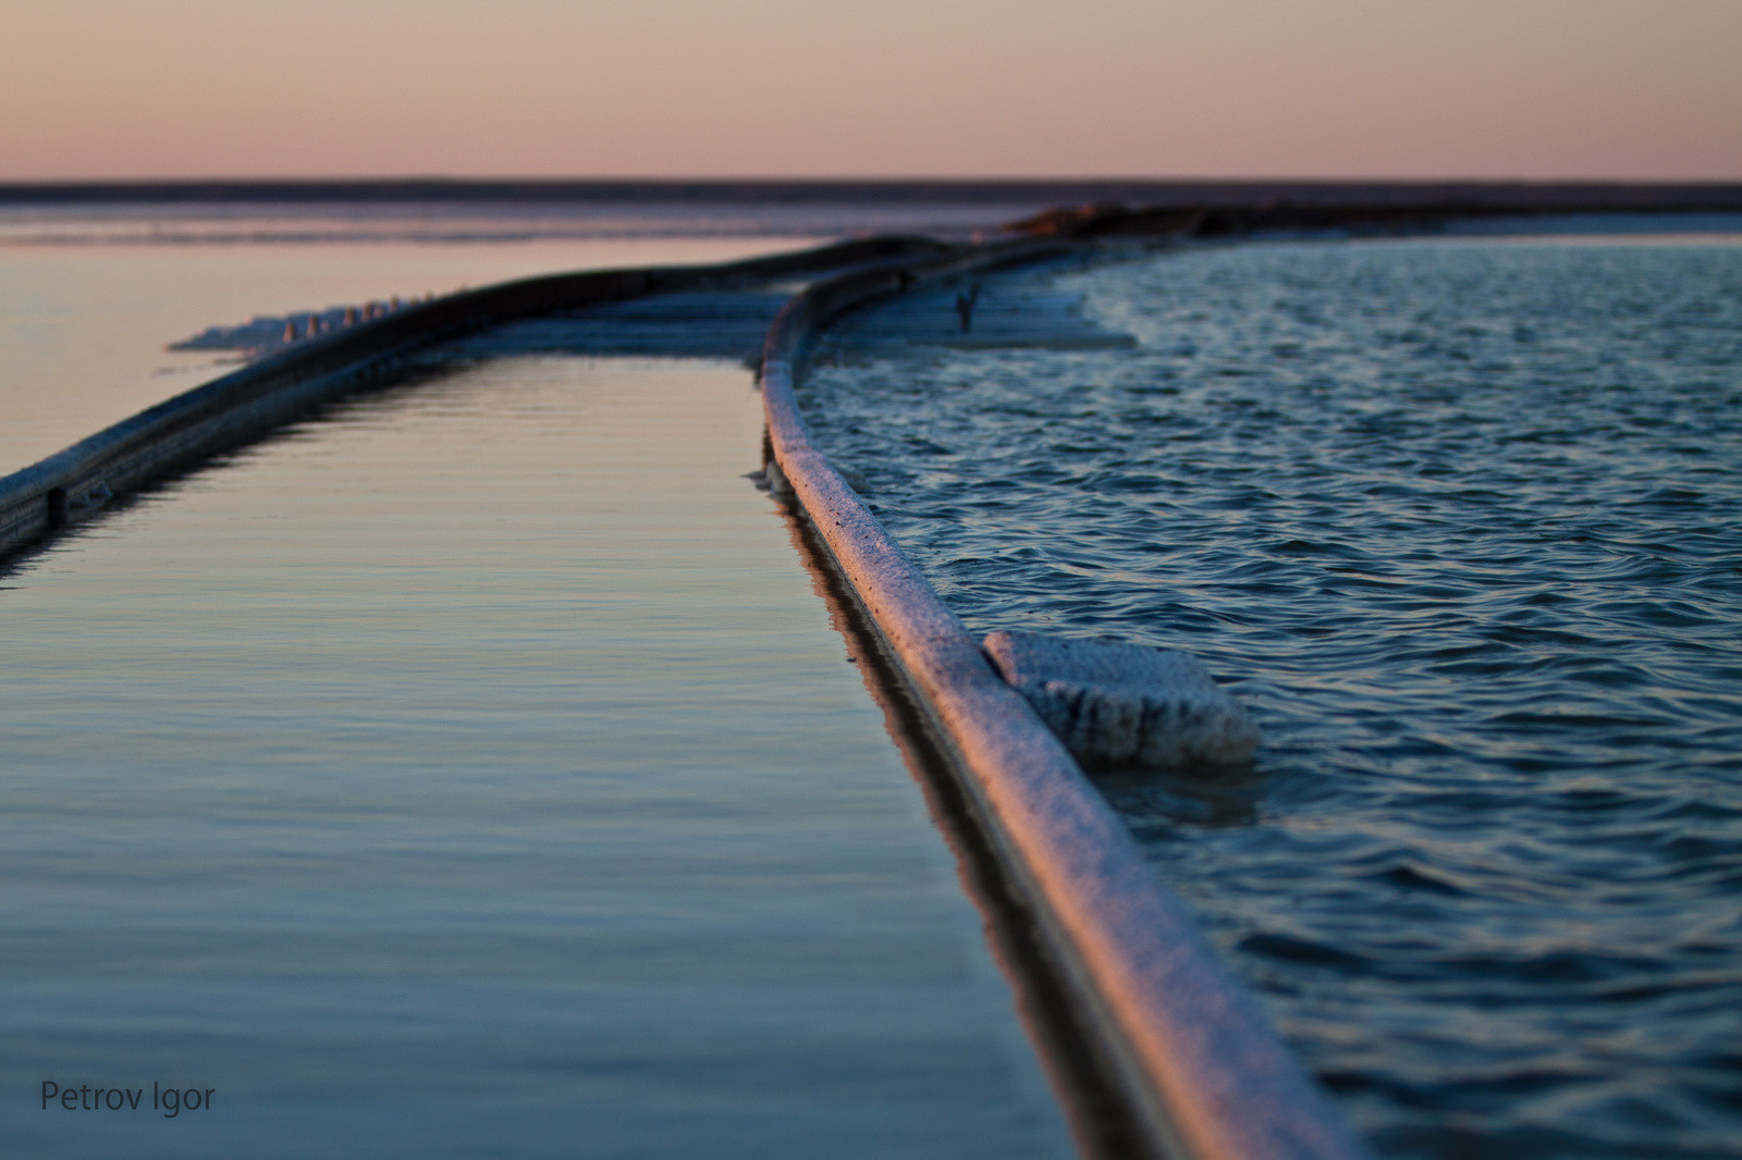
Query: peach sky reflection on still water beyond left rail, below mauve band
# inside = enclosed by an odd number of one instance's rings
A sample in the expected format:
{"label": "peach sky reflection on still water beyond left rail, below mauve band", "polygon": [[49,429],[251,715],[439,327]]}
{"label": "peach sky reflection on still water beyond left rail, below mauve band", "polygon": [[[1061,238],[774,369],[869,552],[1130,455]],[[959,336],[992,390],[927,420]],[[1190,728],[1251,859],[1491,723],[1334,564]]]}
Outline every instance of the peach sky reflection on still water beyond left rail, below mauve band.
{"label": "peach sky reflection on still water beyond left rail, below mauve band", "polygon": [[[0,475],[233,369],[240,359],[228,352],[165,350],[209,326],[394,294],[446,294],[563,270],[730,261],[815,242],[794,230],[786,239],[592,237],[448,246],[131,246],[78,233],[59,246],[7,246],[5,225],[17,214],[0,211]],[[199,221],[206,218],[190,225]]]}

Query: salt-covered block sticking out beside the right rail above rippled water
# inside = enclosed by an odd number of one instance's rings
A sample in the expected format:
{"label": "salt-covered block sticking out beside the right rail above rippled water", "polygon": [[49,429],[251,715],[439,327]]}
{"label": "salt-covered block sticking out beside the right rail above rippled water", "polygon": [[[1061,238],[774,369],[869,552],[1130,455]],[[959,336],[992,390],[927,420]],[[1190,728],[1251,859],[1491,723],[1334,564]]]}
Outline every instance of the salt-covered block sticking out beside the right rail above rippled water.
{"label": "salt-covered block sticking out beside the right rail above rippled water", "polygon": [[1258,726],[1190,653],[993,632],[998,674],[1064,747],[1096,765],[1246,765]]}

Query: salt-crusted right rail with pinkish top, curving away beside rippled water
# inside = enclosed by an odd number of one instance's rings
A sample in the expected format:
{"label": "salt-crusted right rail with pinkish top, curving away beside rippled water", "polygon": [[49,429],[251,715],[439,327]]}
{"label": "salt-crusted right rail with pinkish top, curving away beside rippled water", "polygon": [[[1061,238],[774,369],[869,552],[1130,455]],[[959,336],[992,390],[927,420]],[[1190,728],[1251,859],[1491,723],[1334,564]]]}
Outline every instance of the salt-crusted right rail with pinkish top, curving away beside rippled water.
{"label": "salt-crusted right rail with pinkish top, curving away beside rippled water", "polygon": [[854,307],[1059,244],[981,247],[820,282],[763,348],[773,463],[930,716],[1005,874],[1026,895],[1094,1047],[1150,1146],[1181,1160],[1348,1160],[1364,1151],[1136,841],[1023,697],[812,444],[793,394],[812,340]]}

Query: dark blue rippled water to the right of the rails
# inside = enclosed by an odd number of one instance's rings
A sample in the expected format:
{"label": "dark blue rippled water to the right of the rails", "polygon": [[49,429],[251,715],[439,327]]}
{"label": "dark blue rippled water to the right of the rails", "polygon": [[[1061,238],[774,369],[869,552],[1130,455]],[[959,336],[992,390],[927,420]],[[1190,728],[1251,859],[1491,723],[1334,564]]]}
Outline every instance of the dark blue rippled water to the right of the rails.
{"label": "dark blue rippled water to the right of the rails", "polygon": [[1103,786],[1390,1157],[1742,1155],[1742,246],[1056,279],[1132,350],[840,355],[976,631],[1200,655],[1249,775]]}

